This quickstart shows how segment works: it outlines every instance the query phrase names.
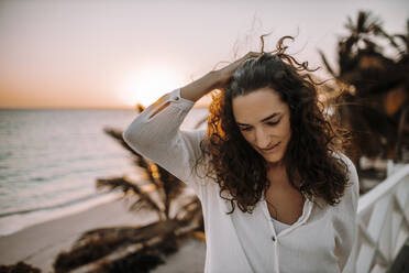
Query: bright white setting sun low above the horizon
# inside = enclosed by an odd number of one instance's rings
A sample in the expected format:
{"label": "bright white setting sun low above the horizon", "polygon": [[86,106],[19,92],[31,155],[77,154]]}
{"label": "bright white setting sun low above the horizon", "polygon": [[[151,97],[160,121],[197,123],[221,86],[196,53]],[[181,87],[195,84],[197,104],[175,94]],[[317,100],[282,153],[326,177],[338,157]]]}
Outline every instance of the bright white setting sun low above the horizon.
{"label": "bright white setting sun low above the horizon", "polygon": [[183,80],[176,72],[165,68],[131,70],[121,80],[119,96],[126,106],[141,103],[144,107],[155,102],[161,96],[180,87]]}

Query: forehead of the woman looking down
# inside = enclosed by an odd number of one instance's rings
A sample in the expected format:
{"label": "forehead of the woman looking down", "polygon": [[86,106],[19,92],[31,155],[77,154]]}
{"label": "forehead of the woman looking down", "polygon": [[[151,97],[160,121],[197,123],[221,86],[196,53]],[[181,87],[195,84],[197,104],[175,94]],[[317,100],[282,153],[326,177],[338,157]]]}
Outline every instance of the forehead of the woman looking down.
{"label": "forehead of the woman looking down", "polygon": [[269,87],[233,98],[232,107],[235,121],[246,124],[255,124],[275,112],[285,113],[289,110],[279,94]]}

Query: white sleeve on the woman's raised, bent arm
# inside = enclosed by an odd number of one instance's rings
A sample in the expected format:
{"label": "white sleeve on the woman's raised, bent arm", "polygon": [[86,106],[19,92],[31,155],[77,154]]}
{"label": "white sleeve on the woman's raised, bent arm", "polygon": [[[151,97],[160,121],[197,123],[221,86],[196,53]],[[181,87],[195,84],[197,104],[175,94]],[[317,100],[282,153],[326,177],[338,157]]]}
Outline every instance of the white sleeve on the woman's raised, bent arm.
{"label": "white sleeve on the woman's raised, bent arm", "polygon": [[191,168],[200,155],[203,130],[179,130],[194,101],[175,89],[141,112],[123,132],[123,140],[137,153],[200,192],[199,179]]}

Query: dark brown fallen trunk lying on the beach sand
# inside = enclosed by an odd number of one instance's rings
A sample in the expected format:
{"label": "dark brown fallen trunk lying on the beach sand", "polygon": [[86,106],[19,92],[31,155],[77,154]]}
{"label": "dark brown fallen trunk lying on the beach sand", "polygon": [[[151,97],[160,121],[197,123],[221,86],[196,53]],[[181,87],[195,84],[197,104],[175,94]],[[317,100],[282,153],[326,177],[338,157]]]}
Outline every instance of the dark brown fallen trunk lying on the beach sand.
{"label": "dark brown fallen trunk lying on the beach sand", "polygon": [[[163,263],[163,258],[177,250],[178,241],[189,236],[192,231],[198,230],[200,226],[189,225],[183,221],[167,220],[163,222],[155,222],[141,228],[115,228],[115,229],[97,229],[89,231],[80,238],[70,252],[62,253],[59,255],[59,263],[55,264],[56,272],[109,272],[111,264],[121,263],[122,260],[129,256],[142,256],[150,253],[157,256],[157,265]],[[82,265],[75,264],[79,253],[84,258],[84,250],[96,253],[100,251],[99,243],[113,240],[120,241],[120,244],[110,249],[108,253],[101,253],[100,256],[93,255],[92,259],[84,261]],[[97,243],[97,244],[96,244]],[[95,245],[95,250],[90,247]],[[145,252],[145,253],[144,253]],[[64,266],[63,266],[64,265]],[[68,266],[67,266],[68,265]],[[137,264],[140,267],[146,264]]]}

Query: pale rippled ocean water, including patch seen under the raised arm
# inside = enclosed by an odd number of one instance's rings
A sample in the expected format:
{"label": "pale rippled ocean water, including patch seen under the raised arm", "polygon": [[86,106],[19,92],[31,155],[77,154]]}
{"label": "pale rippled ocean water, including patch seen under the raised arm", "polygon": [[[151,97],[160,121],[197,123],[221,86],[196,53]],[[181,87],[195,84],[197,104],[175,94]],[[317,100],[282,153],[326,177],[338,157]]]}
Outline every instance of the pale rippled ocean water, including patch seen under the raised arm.
{"label": "pale rippled ocean water, including patch seen under the raised arm", "polygon": [[[181,129],[207,113],[194,108]],[[0,109],[0,237],[120,196],[97,190],[97,178],[141,179],[133,155],[103,132],[123,131],[136,117],[133,110]]]}

